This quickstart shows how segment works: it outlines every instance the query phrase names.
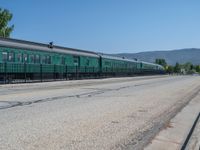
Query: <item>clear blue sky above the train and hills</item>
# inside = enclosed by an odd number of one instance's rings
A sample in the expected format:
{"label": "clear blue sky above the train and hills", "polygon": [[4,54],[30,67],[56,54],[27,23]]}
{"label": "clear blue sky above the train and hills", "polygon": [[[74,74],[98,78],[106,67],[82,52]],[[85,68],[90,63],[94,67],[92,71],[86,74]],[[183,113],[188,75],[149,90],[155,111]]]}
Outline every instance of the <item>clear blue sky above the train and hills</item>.
{"label": "clear blue sky above the train and hills", "polygon": [[200,47],[200,0],[0,0],[13,38],[105,53]]}

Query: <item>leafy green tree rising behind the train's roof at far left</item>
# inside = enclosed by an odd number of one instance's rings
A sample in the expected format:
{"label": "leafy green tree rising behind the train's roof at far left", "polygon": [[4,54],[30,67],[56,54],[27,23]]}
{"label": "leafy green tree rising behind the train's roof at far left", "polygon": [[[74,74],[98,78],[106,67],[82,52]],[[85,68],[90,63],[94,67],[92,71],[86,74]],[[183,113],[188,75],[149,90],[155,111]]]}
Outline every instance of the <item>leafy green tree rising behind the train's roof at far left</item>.
{"label": "leafy green tree rising behind the train's roof at far left", "polygon": [[0,8],[0,37],[10,37],[14,25],[8,26],[8,23],[11,21],[12,16],[9,10]]}

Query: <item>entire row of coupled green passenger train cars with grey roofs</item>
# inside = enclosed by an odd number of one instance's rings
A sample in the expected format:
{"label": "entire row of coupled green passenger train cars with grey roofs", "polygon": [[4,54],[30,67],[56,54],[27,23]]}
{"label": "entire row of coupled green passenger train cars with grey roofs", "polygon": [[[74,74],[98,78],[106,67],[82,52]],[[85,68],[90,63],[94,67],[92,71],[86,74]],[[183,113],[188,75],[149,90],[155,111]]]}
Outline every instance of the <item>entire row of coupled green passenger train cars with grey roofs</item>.
{"label": "entire row of coupled green passenger train cars with grey roofs", "polygon": [[0,82],[163,73],[159,65],[95,52],[0,38]]}

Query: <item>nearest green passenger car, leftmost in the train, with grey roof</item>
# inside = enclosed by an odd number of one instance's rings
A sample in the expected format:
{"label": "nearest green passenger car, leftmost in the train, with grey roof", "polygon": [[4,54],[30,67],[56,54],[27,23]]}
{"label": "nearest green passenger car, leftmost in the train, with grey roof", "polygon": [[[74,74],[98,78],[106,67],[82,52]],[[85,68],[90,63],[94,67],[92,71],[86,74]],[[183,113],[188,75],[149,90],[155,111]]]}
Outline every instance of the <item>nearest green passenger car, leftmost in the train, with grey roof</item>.
{"label": "nearest green passenger car, leftmost in the train, with grey roof", "polygon": [[0,80],[73,79],[98,72],[99,56],[94,52],[0,38]]}

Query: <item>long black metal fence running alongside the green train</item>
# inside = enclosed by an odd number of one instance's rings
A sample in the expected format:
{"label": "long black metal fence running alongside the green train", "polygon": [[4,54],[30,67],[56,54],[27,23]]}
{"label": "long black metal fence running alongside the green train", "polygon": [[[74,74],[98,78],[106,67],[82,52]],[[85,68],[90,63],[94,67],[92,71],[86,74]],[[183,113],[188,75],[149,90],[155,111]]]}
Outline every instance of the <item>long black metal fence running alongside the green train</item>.
{"label": "long black metal fence running alongside the green train", "polygon": [[89,67],[52,64],[0,63],[0,83],[42,82],[136,74],[155,74],[159,71],[137,68]]}

